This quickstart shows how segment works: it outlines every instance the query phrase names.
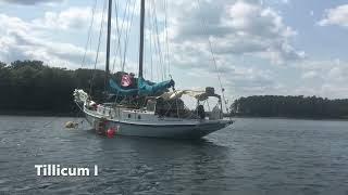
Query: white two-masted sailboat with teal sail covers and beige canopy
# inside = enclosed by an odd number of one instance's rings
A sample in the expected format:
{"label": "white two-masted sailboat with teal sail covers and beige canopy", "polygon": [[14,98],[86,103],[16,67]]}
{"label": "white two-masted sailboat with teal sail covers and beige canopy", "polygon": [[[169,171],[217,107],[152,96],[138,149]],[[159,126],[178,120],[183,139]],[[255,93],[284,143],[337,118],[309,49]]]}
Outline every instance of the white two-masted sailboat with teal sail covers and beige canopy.
{"label": "white two-masted sailboat with teal sail covers and beige canopy", "polygon": [[[109,93],[116,99],[97,104],[84,90],[75,89],[74,101],[86,120],[101,134],[112,130],[116,135],[171,139],[199,139],[232,125],[231,119],[223,119],[222,96],[215,93],[214,88],[208,87],[202,91],[176,90],[173,79],[154,83],[144,78],[145,2],[140,2],[138,78],[129,78],[124,74],[122,83],[117,83],[109,69],[112,24],[112,0],[109,0],[105,80]],[[136,87],[124,88],[130,80],[136,80]],[[185,106],[183,95],[196,100],[196,109],[190,110]],[[208,113],[203,103],[211,98],[217,99],[217,104]]]}

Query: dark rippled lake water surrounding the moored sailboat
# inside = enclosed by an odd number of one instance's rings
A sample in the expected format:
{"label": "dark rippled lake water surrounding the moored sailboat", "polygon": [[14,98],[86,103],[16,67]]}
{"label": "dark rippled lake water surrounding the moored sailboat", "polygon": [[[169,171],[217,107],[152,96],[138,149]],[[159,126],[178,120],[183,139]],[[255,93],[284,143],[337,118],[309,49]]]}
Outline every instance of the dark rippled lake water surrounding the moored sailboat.
{"label": "dark rippled lake water surrounding the moored sailboat", "polygon": [[[198,141],[104,138],[0,116],[0,194],[348,194],[348,122],[236,119]],[[99,166],[37,177],[35,165]]]}

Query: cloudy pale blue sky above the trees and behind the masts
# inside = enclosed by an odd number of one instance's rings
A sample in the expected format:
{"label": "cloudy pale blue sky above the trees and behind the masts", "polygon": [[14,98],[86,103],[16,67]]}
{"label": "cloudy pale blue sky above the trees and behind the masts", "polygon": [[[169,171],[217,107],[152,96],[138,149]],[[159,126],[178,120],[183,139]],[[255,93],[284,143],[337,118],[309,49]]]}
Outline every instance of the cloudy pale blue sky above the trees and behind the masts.
{"label": "cloudy pale blue sky above the trees and behind the masts", "polygon": [[[0,61],[103,68],[103,4],[0,0]],[[348,95],[346,0],[147,0],[146,10],[147,79],[220,91],[220,76],[228,100]],[[112,26],[112,70],[137,74],[139,0],[114,0]]]}

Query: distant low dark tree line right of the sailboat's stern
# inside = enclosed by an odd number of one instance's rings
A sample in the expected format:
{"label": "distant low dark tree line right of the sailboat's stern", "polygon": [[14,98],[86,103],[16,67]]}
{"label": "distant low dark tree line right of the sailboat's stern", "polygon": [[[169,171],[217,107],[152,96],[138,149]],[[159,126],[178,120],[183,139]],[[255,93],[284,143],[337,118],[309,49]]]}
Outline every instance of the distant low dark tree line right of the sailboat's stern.
{"label": "distant low dark tree line right of the sailboat's stern", "polygon": [[254,95],[231,105],[233,116],[289,118],[348,118],[348,100],[318,96]]}

